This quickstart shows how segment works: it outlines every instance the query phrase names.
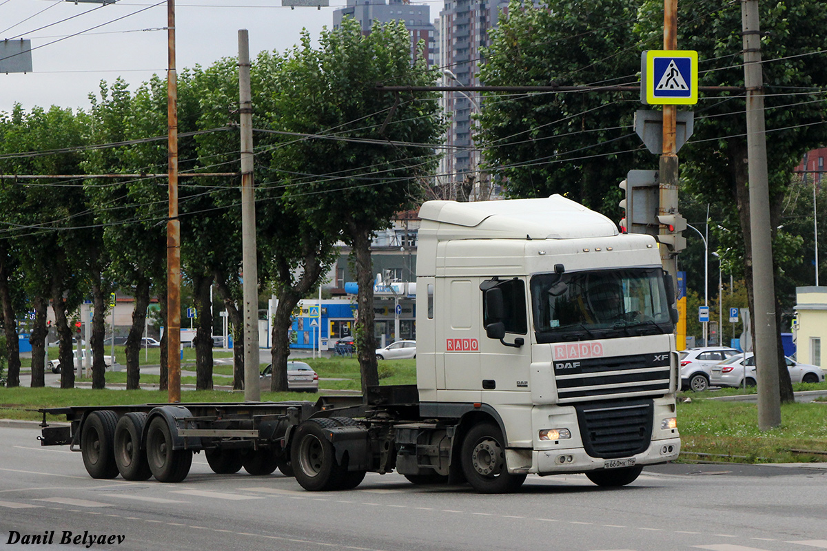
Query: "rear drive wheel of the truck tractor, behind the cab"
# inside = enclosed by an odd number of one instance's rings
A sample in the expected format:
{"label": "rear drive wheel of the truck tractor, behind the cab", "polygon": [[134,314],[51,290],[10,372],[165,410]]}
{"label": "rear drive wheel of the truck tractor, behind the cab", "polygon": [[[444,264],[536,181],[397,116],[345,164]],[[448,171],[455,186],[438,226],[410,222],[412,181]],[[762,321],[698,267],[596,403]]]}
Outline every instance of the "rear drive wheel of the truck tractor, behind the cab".
{"label": "rear drive wheel of the truck tractor, behind the cab", "polygon": [[290,447],[290,464],[296,481],[309,492],[341,488],[342,475],[347,472],[337,465],[336,450],[324,434],[324,429],[336,425],[331,419],[309,419],[296,428]]}

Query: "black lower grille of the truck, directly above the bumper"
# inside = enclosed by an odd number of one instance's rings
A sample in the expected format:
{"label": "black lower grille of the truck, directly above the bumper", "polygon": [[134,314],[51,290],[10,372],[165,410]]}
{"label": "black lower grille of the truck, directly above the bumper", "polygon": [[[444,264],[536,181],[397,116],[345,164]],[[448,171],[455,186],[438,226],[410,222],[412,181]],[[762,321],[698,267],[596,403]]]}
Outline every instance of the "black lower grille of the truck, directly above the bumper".
{"label": "black lower grille of the truck, directly above the bumper", "polygon": [[640,454],[652,440],[651,400],[575,406],[586,453],[595,458]]}

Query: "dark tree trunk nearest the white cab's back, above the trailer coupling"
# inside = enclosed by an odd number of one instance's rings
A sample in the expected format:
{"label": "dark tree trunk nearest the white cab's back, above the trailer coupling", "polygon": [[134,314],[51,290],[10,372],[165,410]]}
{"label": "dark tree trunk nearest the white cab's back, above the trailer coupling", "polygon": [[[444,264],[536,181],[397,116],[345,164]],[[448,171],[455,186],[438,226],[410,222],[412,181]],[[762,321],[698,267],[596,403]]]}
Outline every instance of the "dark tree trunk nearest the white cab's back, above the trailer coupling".
{"label": "dark tree trunk nearest the white cab's back, above the trailer coupling", "polygon": [[370,260],[371,234],[370,229],[351,224],[353,255],[356,257],[356,282],[359,284],[359,294],[356,296],[356,352],[359,357],[363,397],[367,397],[368,387],[379,386],[374,335],[373,263]]}

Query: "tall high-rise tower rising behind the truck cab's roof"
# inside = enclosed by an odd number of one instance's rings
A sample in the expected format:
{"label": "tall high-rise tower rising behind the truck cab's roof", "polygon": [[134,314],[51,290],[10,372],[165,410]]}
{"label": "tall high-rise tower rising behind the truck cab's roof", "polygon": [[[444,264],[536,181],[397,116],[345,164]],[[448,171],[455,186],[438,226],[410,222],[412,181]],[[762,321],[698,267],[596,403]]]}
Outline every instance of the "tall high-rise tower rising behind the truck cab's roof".
{"label": "tall high-rise tower rising behind the truck cab's roof", "polygon": [[[508,0],[445,1],[445,8],[439,14],[437,64],[443,69],[446,86],[480,85],[480,48],[490,45],[488,31],[497,26],[500,12],[505,12],[508,3]],[[463,189],[466,194],[471,190],[470,197],[451,198],[485,198],[479,197],[480,183],[485,184],[485,176],[479,172],[480,152],[474,144],[471,119],[472,114],[480,111],[480,94],[448,92],[443,101],[452,118],[438,180],[442,187]]]}

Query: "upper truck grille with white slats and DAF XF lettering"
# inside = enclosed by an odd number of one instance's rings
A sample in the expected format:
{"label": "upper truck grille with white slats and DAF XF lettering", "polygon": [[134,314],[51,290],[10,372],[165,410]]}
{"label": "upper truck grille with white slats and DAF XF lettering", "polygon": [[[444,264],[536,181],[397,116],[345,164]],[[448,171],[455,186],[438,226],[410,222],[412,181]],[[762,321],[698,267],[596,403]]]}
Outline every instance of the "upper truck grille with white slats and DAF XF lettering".
{"label": "upper truck grille with white slats and DAF XF lettering", "polygon": [[554,362],[559,403],[600,398],[662,396],[669,392],[669,354]]}

